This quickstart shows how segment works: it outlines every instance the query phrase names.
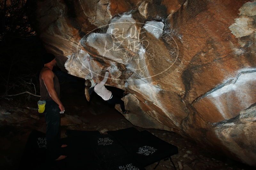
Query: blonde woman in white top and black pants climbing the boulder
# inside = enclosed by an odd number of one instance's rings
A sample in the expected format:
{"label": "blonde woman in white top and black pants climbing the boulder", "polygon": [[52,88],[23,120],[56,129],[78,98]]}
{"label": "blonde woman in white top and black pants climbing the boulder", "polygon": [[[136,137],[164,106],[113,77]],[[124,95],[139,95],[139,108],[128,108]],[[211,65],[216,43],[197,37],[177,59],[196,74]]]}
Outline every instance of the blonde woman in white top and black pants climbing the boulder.
{"label": "blonde woman in white top and black pants climbing the boulder", "polygon": [[94,87],[94,91],[100,96],[102,97],[103,100],[107,101],[110,104],[120,104],[120,107],[122,109],[123,114],[128,114],[130,113],[129,110],[125,110],[124,108],[124,101],[121,100],[120,98],[118,98],[116,95],[113,95],[111,91],[109,91],[108,89],[106,89],[106,87],[104,86],[104,84],[106,83],[106,81],[108,80],[108,74],[109,72],[107,71],[104,79],[99,82],[96,83],[96,76],[94,75],[93,69],[92,69],[92,65],[91,65],[91,61],[89,56],[87,56],[86,62],[88,63],[89,66],[89,70],[92,76],[92,79],[86,79],[85,80],[85,89],[84,89],[84,93],[85,93],[85,97],[86,100],[89,102],[90,101],[90,93],[89,93],[89,89]]}

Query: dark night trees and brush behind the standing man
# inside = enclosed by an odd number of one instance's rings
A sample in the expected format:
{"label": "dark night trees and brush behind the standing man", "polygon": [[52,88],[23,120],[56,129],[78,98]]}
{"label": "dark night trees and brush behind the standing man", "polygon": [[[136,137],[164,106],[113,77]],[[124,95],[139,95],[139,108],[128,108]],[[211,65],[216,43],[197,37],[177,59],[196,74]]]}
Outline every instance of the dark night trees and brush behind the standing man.
{"label": "dark night trees and brush behind the standing man", "polygon": [[[0,1],[0,96],[39,94],[38,75],[46,52],[29,24],[25,0]],[[32,97],[24,94],[25,100]],[[24,98],[24,95],[23,98]]]}

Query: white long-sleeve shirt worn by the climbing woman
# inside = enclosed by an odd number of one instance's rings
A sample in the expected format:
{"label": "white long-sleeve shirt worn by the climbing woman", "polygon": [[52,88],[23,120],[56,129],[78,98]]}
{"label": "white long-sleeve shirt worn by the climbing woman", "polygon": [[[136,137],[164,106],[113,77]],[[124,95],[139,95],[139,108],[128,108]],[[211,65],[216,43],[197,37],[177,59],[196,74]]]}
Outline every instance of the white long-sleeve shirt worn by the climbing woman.
{"label": "white long-sleeve shirt worn by the climbing woman", "polygon": [[[95,78],[95,74],[93,72],[93,68],[91,66],[91,62],[90,61],[87,61],[88,62],[88,66],[89,66],[89,70],[90,70],[90,73],[91,73],[91,76],[92,78]],[[104,84],[107,82],[108,80],[108,72],[105,73],[105,76],[104,76],[104,79],[97,83],[95,86],[94,86],[94,91],[100,96],[102,97],[103,100],[108,100],[110,99],[110,97],[112,96],[112,92],[109,91],[108,89],[106,89],[106,87],[104,86]]]}

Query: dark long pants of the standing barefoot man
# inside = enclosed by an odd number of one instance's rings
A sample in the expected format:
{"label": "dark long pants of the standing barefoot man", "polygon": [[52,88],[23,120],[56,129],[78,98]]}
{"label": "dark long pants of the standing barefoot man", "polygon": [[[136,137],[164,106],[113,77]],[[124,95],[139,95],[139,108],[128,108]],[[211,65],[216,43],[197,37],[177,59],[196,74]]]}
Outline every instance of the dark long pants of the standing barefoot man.
{"label": "dark long pants of the standing barefoot man", "polygon": [[47,151],[50,159],[57,159],[60,154],[60,108],[53,100],[45,104]]}

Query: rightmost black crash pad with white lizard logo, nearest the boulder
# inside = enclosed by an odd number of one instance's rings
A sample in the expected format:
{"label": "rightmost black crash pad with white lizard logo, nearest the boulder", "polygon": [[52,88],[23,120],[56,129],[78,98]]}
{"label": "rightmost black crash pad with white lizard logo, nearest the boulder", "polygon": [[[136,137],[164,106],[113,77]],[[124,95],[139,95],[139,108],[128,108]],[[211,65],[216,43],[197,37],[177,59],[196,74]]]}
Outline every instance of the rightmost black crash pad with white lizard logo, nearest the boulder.
{"label": "rightmost black crash pad with white lizard logo, nearest the boulder", "polygon": [[129,135],[115,131],[108,133],[112,134],[143,167],[178,153],[177,146],[157,138],[148,131],[134,131]]}

